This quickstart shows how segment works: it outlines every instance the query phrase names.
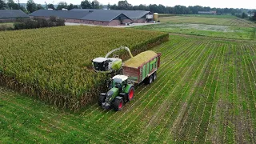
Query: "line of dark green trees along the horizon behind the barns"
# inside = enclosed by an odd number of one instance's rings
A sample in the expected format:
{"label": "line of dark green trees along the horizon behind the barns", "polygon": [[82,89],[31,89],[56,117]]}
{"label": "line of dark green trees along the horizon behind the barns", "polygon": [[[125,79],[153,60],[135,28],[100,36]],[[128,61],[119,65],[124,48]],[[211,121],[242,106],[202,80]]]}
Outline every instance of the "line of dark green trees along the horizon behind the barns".
{"label": "line of dark green trees along the horizon behind the barns", "polygon": [[[33,0],[28,0],[26,7],[21,6],[18,3],[15,3],[14,0],[0,0],[0,10],[1,9],[20,9],[25,11],[26,13],[32,13],[36,10],[40,9],[53,9],[53,10],[71,10],[71,9],[102,9],[103,6],[97,1],[93,0],[92,2],[89,0],[83,0],[80,5],[73,5],[70,3],[69,5],[66,2],[59,2],[58,6],[55,7],[54,4],[47,4],[46,7],[43,7],[40,4],[36,4]],[[217,14],[250,14],[254,15],[256,10],[248,10],[248,9],[234,9],[234,8],[211,8],[209,6],[163,6],[163,5],[156,5],[150,4],[149,6],[146,5],[139,5],[139,6],[132,6],[127,0],[119,1],[118,4],[114,5],[107,5],[107,9],[110,10],[147,10],[154,13],[160,14],[198,14],[198,11],[216,11]]]}

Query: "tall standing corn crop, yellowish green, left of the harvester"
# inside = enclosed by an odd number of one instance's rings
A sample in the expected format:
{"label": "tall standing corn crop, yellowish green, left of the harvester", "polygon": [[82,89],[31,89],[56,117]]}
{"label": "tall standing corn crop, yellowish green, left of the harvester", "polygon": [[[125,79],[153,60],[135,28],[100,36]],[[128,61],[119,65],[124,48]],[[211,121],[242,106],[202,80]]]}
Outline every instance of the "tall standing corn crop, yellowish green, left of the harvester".
{"label": "tall standing corn crop, yellowish green, left of the harvester", "polygon": [[168,38],[162,32],[98,26],[1,32],[0,84],[78,110],[105,89],[105,76],[93,72],[92,59],[120,46],[138,54]]}

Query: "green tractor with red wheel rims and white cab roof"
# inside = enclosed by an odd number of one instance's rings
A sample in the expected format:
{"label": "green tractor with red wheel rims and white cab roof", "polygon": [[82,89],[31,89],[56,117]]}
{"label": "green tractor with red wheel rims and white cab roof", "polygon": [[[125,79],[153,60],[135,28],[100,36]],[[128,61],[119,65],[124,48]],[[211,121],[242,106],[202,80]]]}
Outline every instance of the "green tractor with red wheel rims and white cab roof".
{"label": "green tractor with red wheel rims and white cab roof", "polygon": [[119,74],[111,78],[109,83],[110,90],[100,94],[98,105],[103,109],[122,110],[124,102],[130,102],[134,98],[134,84],[128,82],[127,76]]}

